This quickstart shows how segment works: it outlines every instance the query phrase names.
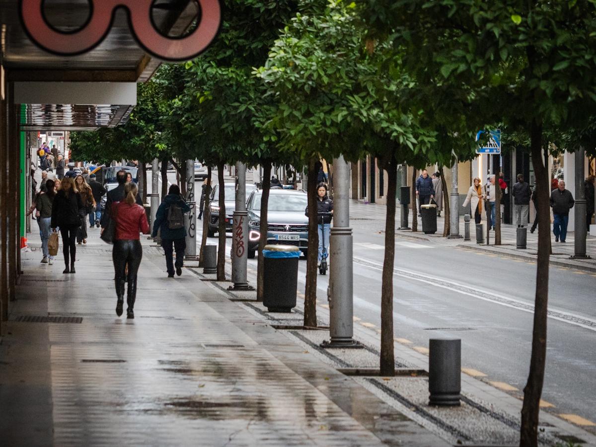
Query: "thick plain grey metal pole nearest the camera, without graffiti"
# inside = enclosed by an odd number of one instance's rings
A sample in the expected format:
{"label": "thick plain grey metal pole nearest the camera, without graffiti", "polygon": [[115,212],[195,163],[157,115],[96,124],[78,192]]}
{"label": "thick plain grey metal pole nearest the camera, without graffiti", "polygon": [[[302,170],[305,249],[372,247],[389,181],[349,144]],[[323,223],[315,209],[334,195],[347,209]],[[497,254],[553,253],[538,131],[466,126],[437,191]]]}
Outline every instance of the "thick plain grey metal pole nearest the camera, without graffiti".
{"label": "thick plain grey metal pole nearest the camera, without graffiti", "polygon": [[333,160],[334,211],[330,237],[330,259],[327,296],[330,311],[331,340],[322,347],[362,347],[352,339],[353,329],[353,256],[350,225],[350,166],[343,156]]}

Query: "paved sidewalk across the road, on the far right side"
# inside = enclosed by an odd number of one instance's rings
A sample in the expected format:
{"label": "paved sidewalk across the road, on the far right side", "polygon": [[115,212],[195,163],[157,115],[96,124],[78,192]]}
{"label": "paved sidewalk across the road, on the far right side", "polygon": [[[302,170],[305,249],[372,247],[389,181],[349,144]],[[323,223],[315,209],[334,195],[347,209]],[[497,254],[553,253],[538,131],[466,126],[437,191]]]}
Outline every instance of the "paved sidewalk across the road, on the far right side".
{"label": "paved sidewalk across the road, on the far right side", "polygon": [[[350,201],[350,222],[352,226],[366,226],[373,231],[384,231],[385,229],[386,206],[378,204],[364,204],[361,201]],[[412,232],[411,229],[401,230],[401,206],[398,205],[395,215],[396,235],[402,238],[411,238],[415,240],[430,241],[437,245],[458,246],[460,248],[489,252],[505,257],[516,257],[527,261],[535,261],[538,254],[538,229],[532,234],[527,229],[527,248],[525,250],[516,247],[516,225],[501,225],[501,246],[493,245],[495,242],[495,232],[490,233],[490,244],[486,245],[486,219],[483,218],[482,224],[485,226],[485,242],[476,243],[476,227],[474,221],[470,222],[470,241],[465,241],[464,236],[464,218],[460,216],[460,239],[448,239],[443,237],[445,228],[445,215],[441,214],[437,218],[437,232],[435,234],[424,234],[422,232],[422,220],[418,219],[418,231]],[[409,210],[409,226],[412,226],[412,210]],[[552,254],[551,265],[575,268],[588,272],[596,273],[596,234],[588,235],[586,238],[587,259],[570,259],[574,254],[575,233],[570,231],[567,235],[566,243],[556,243],[552,234],[552,225],[550,225]]]}

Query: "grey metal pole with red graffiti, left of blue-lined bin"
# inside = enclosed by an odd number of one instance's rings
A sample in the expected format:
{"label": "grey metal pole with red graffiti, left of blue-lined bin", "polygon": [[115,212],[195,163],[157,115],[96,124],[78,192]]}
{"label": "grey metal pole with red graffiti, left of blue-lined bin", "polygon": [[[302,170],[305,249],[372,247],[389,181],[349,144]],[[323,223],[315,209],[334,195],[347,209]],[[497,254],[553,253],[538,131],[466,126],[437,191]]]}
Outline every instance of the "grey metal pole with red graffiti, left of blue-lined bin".
{"label": "grey metal pole with red graffiti, left of blue-lined bin", "polygon": [[247,280],[249,221],[246,211],[246,164],[236,163],[236,207],[232,228],[232,283],[229,290],[253,290]]}

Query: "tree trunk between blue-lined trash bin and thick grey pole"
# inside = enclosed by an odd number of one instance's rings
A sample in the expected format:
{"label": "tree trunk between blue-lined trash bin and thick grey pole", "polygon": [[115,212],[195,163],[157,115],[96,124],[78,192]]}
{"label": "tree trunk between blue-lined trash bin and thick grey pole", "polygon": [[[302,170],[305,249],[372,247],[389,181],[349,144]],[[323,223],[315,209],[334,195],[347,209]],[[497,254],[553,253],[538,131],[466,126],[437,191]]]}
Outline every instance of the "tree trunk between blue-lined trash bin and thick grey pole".
{"label": "tree trunk between blue-lined trash bin and thick grey pole", "polygon": [[306,254],[306,287],[304,297],[304,325],[316,327],[316,275],[319,253],[318,206],[316,204],[316,178],[321,162],[313,158],[308,163],[308,253]]}

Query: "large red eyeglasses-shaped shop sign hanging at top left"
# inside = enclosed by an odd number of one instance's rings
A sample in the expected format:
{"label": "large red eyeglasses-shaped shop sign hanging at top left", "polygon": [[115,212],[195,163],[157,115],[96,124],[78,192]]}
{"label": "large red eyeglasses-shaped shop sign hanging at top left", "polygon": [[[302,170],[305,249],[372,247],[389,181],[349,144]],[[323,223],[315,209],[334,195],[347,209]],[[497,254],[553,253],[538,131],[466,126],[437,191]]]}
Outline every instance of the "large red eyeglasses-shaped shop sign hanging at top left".
{"label": "large red eyeglasses-shaped shop sign hanging at top left", "polygon": [[54,29],[44,15],[44,0],[20,0],[23,28],[32,42],[58,55],[77,55],[91,51],[110,32],[118,8],[128,13],[129,26],[138,44],[149,54],[170,62],[182,62],[205,51],[218,34],[221,7],[218,0],[198,0],[201,21],[197,29],[183,38],[159,33],[151,19],[153,0],[89,0],[88,22],[75,32]]}

